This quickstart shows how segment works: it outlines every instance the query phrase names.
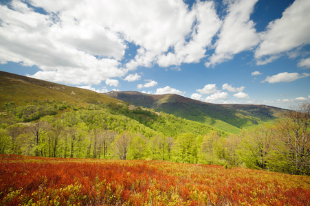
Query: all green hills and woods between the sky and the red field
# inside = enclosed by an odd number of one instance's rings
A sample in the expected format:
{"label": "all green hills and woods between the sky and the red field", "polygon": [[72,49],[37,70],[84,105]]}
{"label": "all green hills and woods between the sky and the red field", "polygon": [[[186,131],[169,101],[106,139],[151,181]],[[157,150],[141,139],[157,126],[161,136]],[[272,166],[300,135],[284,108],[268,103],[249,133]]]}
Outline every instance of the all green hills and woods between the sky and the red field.
{"label": "all green hills and woods between the sky and the red field", "polygon": [[[155,111],[85,89],[1,74],[0,154],[157,159],[309,175],[309,141],[300,141],[309,137],[306,104],[279,124],[259,125],[285,111],[137,93]],[[247,129],[239,133],[242,127]],[[287,135],[295,140],[285,142]],[[306,149],[291,150],[296,142]]]}

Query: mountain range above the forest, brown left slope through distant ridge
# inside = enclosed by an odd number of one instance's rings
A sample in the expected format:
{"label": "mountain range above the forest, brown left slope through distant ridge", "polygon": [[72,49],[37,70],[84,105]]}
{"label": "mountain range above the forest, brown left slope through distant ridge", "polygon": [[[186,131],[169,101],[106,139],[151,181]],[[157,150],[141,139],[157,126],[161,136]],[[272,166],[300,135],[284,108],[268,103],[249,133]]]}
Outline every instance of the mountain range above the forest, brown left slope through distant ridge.
{"label": "mountain range above the forest, brown left slope through distant ridge", "polygon": [[31,102],[65,102],[82,107],[89,104],[129,102],[200,122],[228,133],[239,133],[241,128],[276,119],[287,112],[265,105],[210,104],[174,94],[148,95],[136,91],[102,94],[0,71],[0,106],[10,102],[15,106]]}

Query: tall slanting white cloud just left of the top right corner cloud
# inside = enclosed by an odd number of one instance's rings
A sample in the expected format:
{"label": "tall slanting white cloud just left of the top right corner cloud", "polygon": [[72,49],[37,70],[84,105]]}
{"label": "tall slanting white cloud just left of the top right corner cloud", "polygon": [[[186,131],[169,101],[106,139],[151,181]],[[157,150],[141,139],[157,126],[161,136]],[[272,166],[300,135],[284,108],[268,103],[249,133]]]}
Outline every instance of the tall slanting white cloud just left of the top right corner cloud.
{"label": "tall slanting white cloud just left of the top right corner cloud", "polygon": [[228,15],[224,19],[214,54],[206,67],[217,65],[234,57],[234,54],[251,50],[260,38],[256,33],[250,14],[258,0],[229,1]]}

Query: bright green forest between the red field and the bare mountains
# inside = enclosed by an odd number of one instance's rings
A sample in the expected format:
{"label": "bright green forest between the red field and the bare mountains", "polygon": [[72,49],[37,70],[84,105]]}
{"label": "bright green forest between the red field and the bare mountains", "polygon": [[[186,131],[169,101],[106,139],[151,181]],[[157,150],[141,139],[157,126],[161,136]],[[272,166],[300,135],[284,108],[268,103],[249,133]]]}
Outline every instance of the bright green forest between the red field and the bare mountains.
{"label": "bright green forest between the red field and the bare mountains", "polygon": [[146,159],[310,175],[310,104],[238,135],[129,103],[6,102],[0,154]]}

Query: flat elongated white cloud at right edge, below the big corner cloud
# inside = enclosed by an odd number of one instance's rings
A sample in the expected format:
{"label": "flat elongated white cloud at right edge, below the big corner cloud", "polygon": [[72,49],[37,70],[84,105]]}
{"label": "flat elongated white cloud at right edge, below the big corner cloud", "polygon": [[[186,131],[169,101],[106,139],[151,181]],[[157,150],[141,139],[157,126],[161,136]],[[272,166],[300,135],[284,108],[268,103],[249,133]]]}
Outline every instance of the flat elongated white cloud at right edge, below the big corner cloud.
{"label": "flat elongated white cloud at right edge, below the big corner cloud", "polygon": [[310,73],[302,73],[301,75],[299,73],[278,73],[274,76],[267,76],[263,82],[269,82],[269,83],[278,83],[278,82],[293,82],[295,80],[298,80],[300,78],[306,78],[310,76]]}

